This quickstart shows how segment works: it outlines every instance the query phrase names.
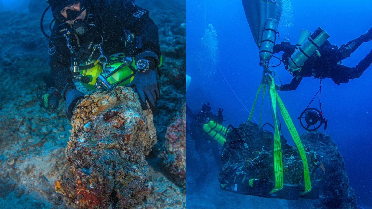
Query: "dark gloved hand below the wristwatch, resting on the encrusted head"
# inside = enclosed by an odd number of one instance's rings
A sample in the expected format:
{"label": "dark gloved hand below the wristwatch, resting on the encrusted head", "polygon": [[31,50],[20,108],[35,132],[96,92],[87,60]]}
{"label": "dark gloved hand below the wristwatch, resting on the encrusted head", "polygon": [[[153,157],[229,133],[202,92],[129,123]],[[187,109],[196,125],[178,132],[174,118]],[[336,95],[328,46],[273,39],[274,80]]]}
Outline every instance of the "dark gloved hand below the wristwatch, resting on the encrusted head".
{"label": "dark gloved hand below the wristwatch, resting on the encrusted head", "polygon": [[147,110],[146,97],[151,105],[155,106],[155,102],[160,96],[155,70],[148,69],[145,72],[137,71],[134,79],[127,86],[132,85],[135,86],[135,90],[140,96],[142,109]]}

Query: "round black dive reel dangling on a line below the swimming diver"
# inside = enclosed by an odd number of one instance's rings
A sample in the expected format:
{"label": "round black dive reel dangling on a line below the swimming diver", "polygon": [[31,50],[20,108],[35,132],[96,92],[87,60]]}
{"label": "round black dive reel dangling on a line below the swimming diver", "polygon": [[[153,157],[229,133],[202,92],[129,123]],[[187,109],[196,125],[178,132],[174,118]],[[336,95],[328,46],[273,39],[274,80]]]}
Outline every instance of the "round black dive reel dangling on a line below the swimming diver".
{"label": "round black dive reel dangling on a line below the swimming diver", "polygon": [[[302,111],[301,115],[297,118],[297,119],[300,120],[300,124],[301,124],[302,128],[304,128],[307,131],[315,131],[318,128],[320,128],[320,126],[323,123],[324,123],[324,130],[327,129],[328,120],[326,120],[324,118],[323,111],[322,111],[322,106],[321,106],[321,102],[320,102],[320,96],[321,96],[321,92],[322,92],[322,79],[320,79],[319,86],[320,87],[319,87],[318,92],[312,98],[311,102],[305,108],[305,110]],[[318,93],[319,93],[319,109],[320,110],[312,108],[312,107],[309,108],[309,106],[314,101],[314,98],[318,95]]]}

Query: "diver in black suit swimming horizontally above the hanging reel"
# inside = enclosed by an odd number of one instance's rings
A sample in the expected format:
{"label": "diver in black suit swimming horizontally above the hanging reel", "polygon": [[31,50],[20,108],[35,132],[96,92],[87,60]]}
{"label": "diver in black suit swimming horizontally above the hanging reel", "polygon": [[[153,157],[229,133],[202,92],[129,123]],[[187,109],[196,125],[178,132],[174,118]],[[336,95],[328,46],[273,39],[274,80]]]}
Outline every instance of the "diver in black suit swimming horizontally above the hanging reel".
{"label": "diver in black suit swimming horizontally above the hanging reel", "polygon": [[[318,49],[320,56],[315,52],[314,55],[302,65],[301,71],[293,72],[292,75],[294,78],[291,83],[282,84],[280,86],[276,84],[276,89],[280,91],[295,90],[303,77],[331,78],[337,85],[340,85],[340,83],[347,83],[354,78],[359,78],[372,63],[372,50],[356,65],[356,67],[348,67],[338,63],[350,57],[350,54],[363,42],[370,40],[372,40],[372,28],[368,30],[367,33],[361,35],[357,39],[347,42],[346,45],[342,45],[340,48],[326,41]],[[278,53],[280,51],[284,52],[282,61],[286,66],[285,68],[288,70],[288,59],[295,52],[295,45],[291,45],[289,42],[276,44],[273,53]]]}

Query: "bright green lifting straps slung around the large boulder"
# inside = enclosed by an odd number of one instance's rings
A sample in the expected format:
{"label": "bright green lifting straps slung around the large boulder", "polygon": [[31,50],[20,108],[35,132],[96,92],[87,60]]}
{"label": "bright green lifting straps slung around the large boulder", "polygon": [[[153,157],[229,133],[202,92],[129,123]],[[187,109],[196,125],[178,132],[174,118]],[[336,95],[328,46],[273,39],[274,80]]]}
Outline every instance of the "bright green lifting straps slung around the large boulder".
{"label": "bright green lifting straps slung around the large boulder", "polygon": [[[309,168],[307,164],[307,158],[305,154],[304,147],[301,143],[301,140],[299,138],[298,132],[292,122],[291,117],[289,116],[289,113],[287,109],[285,108],[283,101],[280,99],[278,92],[275,90],[275,83],[274,79],[271,74],[264,74],[260,83],[260,86],[258,88],[258,91],[256,93],[256,98],[254,99],[253,106],[251,109],[251,114],[249,115],[248,121],[252,119],[252,115],[254,112],[254,107],[256,106],[257,98],[259,96],[260,90],[262,89],[262,86],[265,86],[267,84],[271,109],[270,111],[272,113],[272,118],[274,121],[274,150],[273,150],[273,157],[274,157],[274,174],[275,174],[275,187],[270,193],[274,193],[279,191],[280,189],[283,189],[283,162],[282,162],[282,148],[280,145],[280,135],[279,135],[279,126],[278,126],[278,113],[276,111],[276,104],[278,103],[279,110],[281,115],[283,116],[283,119],[285,121],[285,124],[291,133],[291,136],[296,144],[296,147],[299,151],[299,154],[301,155],[302,164],[304,167],[304,181],[305,181],[305,191],[301,192],[301,194],[306,194],[311,191],[311,183],[310,183],[310,173]],[[263,90],[264,95],[264,90]],[[263,96],[264,99],[264,96]],[[262,117],[262,106],[261,106],[261,113],[260,113],[260,122]],[[261,125],[261,124],[259,124]]]}

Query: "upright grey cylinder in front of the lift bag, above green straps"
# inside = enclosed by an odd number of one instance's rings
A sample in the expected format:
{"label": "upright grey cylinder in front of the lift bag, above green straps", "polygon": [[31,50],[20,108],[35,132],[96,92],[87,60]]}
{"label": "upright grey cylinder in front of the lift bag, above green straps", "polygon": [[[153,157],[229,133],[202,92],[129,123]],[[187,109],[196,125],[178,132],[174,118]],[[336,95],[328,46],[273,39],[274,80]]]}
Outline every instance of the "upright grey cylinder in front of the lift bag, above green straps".
{"label": "upright grey cylinder in front of the lift bag, above green straps", "polygon": [[266,20],[260,46],[260,58],[263,62],[269,61],[271,59],[271,56],[273,55],[277,29],[278,20],[272,18]]}

